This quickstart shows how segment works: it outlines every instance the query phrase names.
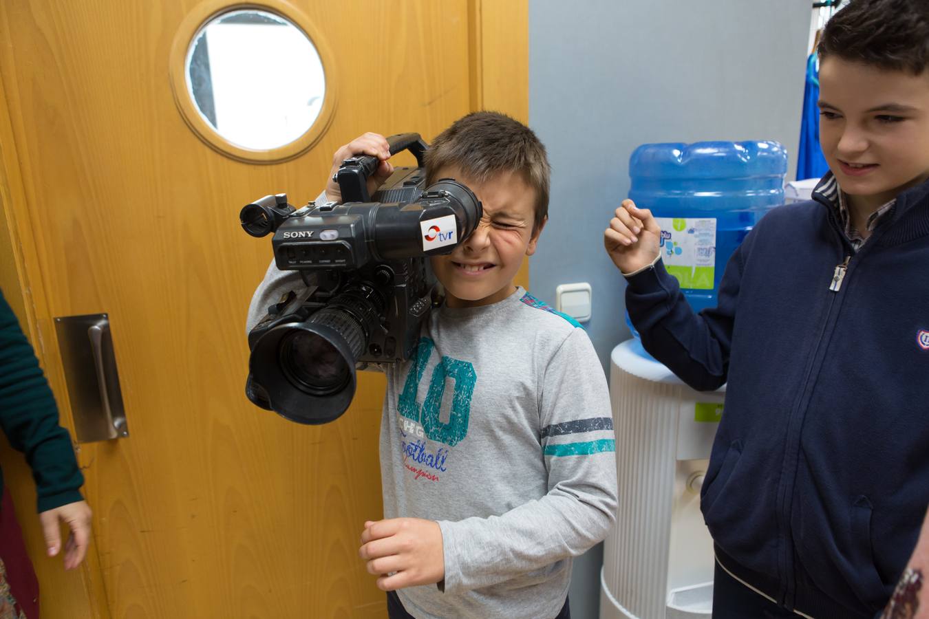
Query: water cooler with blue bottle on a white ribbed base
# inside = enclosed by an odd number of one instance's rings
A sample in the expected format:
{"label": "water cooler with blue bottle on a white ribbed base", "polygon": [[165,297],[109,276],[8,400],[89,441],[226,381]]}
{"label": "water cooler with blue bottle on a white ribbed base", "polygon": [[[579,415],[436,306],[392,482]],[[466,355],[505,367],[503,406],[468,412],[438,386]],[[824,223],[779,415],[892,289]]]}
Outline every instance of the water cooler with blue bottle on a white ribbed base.
{"label": "water cooler with blue bottle on a white ribbed base", "polygon": [[[635,149],[629,197],[658,219],[662,261],[695,311],[716,304],[732,252],[783,203],[786,172],[787,153],[776,142]],[[632,331],[610,355],[619,507],[604,542],[600,619],[708,619],[713,540],[700,486],[725,387],[690,389]]]}

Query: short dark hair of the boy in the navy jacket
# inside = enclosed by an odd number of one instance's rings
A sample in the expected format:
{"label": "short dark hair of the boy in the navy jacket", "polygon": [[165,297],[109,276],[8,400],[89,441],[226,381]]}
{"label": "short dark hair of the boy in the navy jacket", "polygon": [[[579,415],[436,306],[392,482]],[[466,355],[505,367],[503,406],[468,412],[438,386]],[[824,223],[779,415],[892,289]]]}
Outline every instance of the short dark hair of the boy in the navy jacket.
{"label": "short dark hair of the boy in the navy jacket", "polygon": [[929,66],[929,0],[851,0],[826,22],[819,59],[920,75]]}

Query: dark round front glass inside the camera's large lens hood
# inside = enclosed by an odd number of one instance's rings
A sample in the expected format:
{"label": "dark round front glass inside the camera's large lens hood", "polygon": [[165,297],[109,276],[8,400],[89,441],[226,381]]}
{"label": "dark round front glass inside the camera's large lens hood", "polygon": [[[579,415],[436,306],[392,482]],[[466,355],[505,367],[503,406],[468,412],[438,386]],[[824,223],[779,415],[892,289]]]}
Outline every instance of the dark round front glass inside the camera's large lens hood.
{"label": "dark round front glass inside the camera's large lens hood", "polygon": [[281,370],[307,393],[332,395],[351,379],[345,357],[318,333],[293,330],[284,336],[279,350]]}

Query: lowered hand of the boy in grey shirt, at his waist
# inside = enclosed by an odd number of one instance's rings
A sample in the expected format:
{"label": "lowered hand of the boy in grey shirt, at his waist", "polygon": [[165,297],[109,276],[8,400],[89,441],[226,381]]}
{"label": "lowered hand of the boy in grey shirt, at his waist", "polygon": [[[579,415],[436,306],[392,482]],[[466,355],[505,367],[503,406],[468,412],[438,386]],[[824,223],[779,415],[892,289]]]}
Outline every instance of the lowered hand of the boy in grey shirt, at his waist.
{"label": "lowered hand of the boy in grey shirt, at his waist", "polygon": [[378,574],[377,587],[383,591],[431,585],[445,577],[442,531],[431,520],[365,522],[358,554],[368,572]]}

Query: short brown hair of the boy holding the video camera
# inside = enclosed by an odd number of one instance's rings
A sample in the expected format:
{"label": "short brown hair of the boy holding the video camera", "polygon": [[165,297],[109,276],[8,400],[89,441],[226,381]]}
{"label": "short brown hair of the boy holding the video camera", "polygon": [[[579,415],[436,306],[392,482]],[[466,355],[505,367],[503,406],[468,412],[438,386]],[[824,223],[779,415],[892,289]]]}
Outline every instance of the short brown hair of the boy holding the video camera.
{"label": "short brown hair of the boy holding the video camera", "polygon": [[438,172],[449,166],[479,183],[504,172],[521,174],[535,190],[532,231],[548,216],[551,168],[545,147],[529,127],[506,114],[476,111],[451,123],[425,151],[426,186],[435,183]]}

